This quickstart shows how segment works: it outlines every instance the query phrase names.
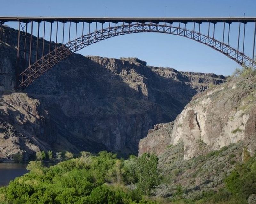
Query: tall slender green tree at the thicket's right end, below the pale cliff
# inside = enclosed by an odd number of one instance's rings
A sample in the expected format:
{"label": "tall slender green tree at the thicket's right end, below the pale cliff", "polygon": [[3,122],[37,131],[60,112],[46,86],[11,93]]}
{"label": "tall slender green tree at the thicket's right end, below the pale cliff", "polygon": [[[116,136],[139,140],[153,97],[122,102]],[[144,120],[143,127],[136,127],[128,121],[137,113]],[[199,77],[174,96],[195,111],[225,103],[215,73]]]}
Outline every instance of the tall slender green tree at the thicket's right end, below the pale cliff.
{"label": "tall slender green tree at the thicket's right end, below the pale cliff", "polygon": [[138,158],[138,188],[145,195],[150,195],[151,189],[153,189],[160,182],[157,163],[158,158],[155,154],[144,153]]}

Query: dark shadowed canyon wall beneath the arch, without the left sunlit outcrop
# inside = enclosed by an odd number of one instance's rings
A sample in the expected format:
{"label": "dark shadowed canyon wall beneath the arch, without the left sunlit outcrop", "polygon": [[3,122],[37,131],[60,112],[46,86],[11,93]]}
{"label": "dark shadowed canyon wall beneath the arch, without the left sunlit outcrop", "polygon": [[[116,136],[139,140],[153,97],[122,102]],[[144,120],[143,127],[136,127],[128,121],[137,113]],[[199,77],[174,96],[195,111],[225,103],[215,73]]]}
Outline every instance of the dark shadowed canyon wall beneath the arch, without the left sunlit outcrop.
{"label": "dark shadowed canyon wall beneath the arch, without the left sunlit outcrop", "polygon": [[173,120],[196,88],[225,81],[205,77],[200,84],[201,77],[194,74],[191,82],[174,69],[147,67],[137,59],[73,55],[26,91],[53,113],[61,137],[79,151],[129,154],[138,151],[139,140],[154,124]]}

